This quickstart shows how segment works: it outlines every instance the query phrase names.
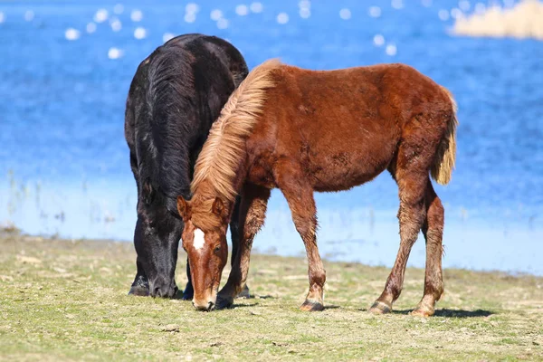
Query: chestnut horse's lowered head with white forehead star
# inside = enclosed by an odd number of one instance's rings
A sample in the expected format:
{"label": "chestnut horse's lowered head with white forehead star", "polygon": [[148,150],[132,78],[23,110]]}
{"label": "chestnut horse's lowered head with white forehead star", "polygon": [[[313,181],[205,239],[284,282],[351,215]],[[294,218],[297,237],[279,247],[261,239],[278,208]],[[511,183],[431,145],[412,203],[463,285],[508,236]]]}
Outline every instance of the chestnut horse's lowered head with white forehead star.
{"label": "chestnut horse's lowered head with white forehead star", "polygon": [[228,259],[228,210],[220,198],[186,201],[177,197],[177,210],[185,221],[182,240],[188,254],[197,310],[212,310]]}

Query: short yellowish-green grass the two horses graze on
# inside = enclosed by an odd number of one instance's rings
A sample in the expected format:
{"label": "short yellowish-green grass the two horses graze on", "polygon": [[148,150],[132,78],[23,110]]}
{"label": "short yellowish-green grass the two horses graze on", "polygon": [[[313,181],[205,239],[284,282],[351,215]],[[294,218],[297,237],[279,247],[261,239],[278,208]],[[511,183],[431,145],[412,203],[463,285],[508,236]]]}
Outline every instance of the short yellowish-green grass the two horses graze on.
{"label": "short yellowish-green grass the two horses graze on", "polygon": [[204,313],[128,296],[129,243],[2,233],[0,250],[0,360],[543,359],[543,278],[534,276],[446,270],[436,316],[420,319],[407,313],[424,271],[410,269],[395,312],[373,316],[389,270],[326,262],[328,308],[307,313],[298,310],[306,262],[254,255],[256,297]]}

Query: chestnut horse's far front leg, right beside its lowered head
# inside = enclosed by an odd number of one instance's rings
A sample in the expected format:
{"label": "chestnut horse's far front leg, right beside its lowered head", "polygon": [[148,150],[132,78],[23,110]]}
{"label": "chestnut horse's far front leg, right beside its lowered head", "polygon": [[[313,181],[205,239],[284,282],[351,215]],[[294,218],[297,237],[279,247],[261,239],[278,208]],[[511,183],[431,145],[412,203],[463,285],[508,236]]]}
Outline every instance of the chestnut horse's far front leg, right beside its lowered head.
{"label": "chestnut horse's far front leg, right beside its lowered head", "polygon": [[217,295],[217,309],[231,306],[234,297],[243,291],[249,272],[252,240],[264,224],[269,198],[268,188],[252,184],[243,187],[239,214],[240,243],[232,255],[234,259],[228,281]]}

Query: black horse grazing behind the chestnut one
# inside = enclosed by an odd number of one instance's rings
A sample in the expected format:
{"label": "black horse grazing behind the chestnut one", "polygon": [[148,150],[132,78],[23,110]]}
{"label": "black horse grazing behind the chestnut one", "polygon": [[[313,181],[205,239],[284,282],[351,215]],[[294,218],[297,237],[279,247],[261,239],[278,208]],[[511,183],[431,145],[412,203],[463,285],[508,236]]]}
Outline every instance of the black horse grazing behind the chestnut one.
{"label": "black horse grazing behind the chestnut one", "polygon": [[[129,294],[176,295],[177,248],[183,231],[176,197],[190,197],[195,160],[209,129],[247,72],[232,44],[202,34],[177,36],[139,64],[125,113],[130,167],[138,186],[138,273]],[[230,228],[235,255],[237,223]],[[183,297],[192,299],[188,261],[187,276]]]}

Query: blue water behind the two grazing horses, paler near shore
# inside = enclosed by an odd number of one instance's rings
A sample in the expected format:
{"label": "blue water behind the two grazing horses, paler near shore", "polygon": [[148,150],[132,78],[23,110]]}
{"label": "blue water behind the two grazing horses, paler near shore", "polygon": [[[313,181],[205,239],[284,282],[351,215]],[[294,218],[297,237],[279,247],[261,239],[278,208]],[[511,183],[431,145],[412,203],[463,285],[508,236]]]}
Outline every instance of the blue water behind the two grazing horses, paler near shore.
{"label": "blue water behind the two grazing horses, paler near shore", "polygon": [[[166,33],[207,33],[232,42],[250,67],[272,57],[311,69],[405,62],[452,90],[460,107],[457,168],[449,186],[436,186],[446,208],[443,265],[543,274],[543,43],[452,36],[453,20],[438,12],[456,1],[395,0],[399,9],[390,1],[313,1],[307,17],[300,5],[309,3],[262,1],[255,13],[252,3],[196,2],[192,23],[179,1],[132,0],[122,9],[109,1],[0,3],[0,224],[130,241],[137,198],[123,138],[129,82]],[[103,23],[93,20],[100,9],[108,11]],[[216,9],[222,20],[212,19]],[[319,194],[317,203],[323,255],[394,262],[390,176]],[[303,253],[278,192],[255,248]],[[410,265],[424,266],[423,241]]]}

